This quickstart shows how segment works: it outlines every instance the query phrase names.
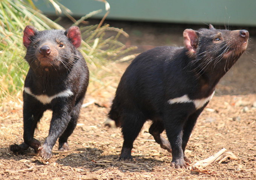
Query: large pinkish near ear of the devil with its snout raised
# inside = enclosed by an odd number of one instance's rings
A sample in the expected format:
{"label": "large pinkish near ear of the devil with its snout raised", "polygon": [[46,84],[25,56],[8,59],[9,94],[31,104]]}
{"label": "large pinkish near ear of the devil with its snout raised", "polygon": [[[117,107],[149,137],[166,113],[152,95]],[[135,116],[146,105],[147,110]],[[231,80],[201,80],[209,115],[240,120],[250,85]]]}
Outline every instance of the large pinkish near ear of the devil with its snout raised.
{"label": "large pinkish near ear of the devil with its snout raised", "polygon": [[186,48],[195,54],[197,50],[197,32],[194,31],[193,29],[185,29],[183,32],[183,37],[184,37],[184,43]]}

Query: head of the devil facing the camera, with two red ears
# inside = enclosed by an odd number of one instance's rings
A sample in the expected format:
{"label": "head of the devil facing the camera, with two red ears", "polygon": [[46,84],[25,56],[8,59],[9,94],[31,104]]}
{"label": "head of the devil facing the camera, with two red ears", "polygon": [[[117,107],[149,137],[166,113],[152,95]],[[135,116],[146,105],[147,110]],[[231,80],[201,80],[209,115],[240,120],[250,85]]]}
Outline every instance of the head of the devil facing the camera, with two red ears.
{"label": "head of the devil facing the camera, with two red ears", "polygon": [[38,31],[33,26],[26,26],[23,44],[27,48],[25,59],[32,69],[69,69],[74,63],[74,52],[81,44],[81,32],[76,26],[66,31]]}

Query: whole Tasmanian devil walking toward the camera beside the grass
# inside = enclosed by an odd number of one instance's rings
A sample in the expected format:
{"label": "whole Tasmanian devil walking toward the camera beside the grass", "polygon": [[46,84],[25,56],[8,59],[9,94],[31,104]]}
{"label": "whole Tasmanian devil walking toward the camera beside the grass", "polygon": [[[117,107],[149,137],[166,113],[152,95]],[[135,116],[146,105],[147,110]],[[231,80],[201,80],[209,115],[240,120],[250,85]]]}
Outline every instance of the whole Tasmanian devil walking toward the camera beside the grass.
{"label": "whole Tasmanian devil walking toward the camera beside the grass", "polygon": [[[30,66],[23,91],[24,142],[11,145],[10,150],[22,153],[32,147],[44,160],[49,160],[58,138],[59,151],[69,150],[67,139],[76,127],[87,90],[89,72],[77,50],[81,32],[76,26],[66,31],[38,31],[27,26],[23,43],[27,48],[25,60]],[[41,146],[34,132],[46,110],[52,110],[52,120],[49,136]]]}

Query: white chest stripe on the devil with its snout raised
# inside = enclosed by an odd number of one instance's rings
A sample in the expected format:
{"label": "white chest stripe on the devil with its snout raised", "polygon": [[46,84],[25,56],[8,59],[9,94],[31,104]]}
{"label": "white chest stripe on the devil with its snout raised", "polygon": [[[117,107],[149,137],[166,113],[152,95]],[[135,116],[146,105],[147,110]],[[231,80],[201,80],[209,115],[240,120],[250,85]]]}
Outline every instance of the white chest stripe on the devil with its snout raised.
{"label": "white chest stripe on the devil with its snout raised", "polygon": [[170,99],[168,101],[169,104],[175,104],[175,103],[188,103],[192,102],[195,105],[195,108],[198,110],[201,107],[203,107],[207,102],[209,102],[212,99],[212,96],[214,95],[214,92],[207,98],[203,99],[189,99],[187,95],[181,96],[179,98]]}

